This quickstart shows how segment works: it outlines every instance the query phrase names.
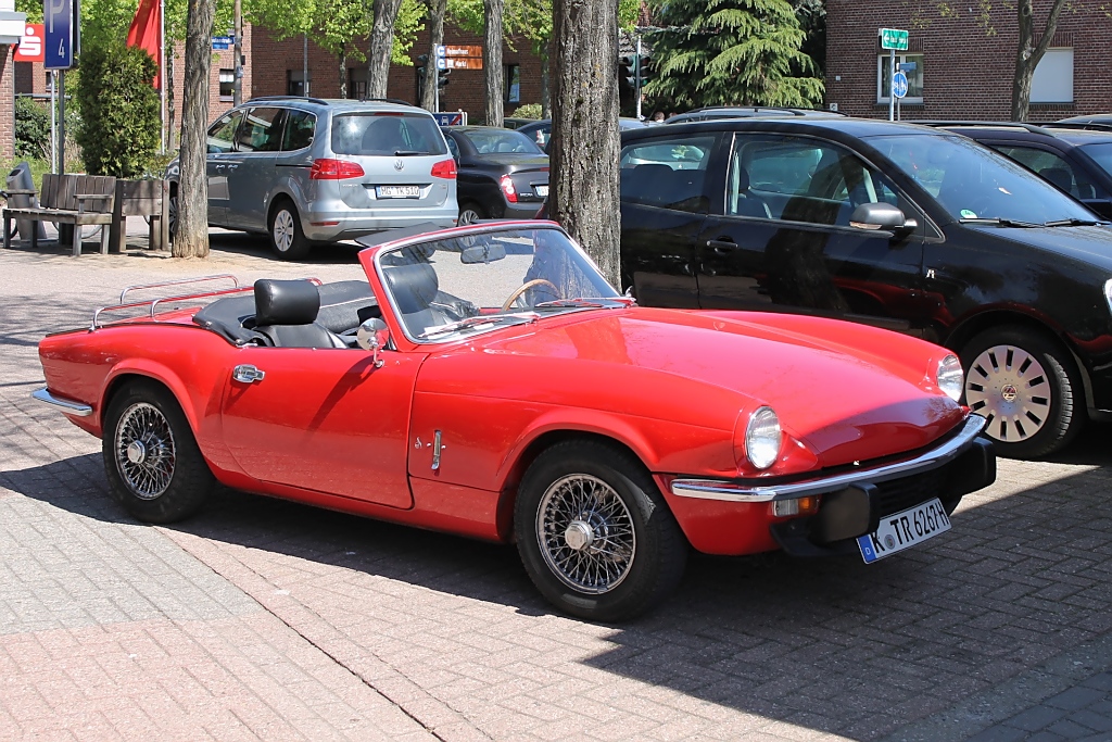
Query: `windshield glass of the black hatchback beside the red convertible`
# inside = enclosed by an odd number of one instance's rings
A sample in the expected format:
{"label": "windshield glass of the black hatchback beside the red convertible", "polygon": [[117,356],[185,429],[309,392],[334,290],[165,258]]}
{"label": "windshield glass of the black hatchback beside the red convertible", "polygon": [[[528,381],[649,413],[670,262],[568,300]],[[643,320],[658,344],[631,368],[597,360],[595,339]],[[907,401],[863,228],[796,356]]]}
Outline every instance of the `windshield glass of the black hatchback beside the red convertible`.
{"label": "windshield glass of the black hatchback beside the red convertible", "polygon": [[1022,165],[972,139],[919,133],[865,140],[954,219],[1043,224],[1096,218]]}

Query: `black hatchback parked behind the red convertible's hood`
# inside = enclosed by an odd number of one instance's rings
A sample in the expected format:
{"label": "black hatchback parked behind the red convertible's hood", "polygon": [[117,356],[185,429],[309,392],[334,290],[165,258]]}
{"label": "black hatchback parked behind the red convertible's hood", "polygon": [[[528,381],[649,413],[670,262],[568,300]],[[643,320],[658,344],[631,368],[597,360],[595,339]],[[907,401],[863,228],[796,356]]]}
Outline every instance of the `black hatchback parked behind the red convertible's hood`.
{"label": "black hatchback parked behind the red convertible's hood", "polygon": [[1086,412],[1112,419],[1112,227],[1021,165],[851,118],[654,127],[622,145],[622,273],[639,303],[946,345],[1004,455],[1056,451]]}

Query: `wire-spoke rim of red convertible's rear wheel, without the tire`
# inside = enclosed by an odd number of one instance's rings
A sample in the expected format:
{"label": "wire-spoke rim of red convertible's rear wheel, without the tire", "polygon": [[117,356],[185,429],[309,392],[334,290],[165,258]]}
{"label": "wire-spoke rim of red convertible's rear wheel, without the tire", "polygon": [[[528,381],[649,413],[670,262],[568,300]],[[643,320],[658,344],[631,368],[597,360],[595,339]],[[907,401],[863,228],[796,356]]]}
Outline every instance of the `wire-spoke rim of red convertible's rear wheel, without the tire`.
{"label": "wire-spoke rim of red convertible's rear wheel, without the tire", "polygon": [[177,461],[173,432],[153,405],[128,407],[116,426],[116,468],[140,499],[155,499],[173,478]]}

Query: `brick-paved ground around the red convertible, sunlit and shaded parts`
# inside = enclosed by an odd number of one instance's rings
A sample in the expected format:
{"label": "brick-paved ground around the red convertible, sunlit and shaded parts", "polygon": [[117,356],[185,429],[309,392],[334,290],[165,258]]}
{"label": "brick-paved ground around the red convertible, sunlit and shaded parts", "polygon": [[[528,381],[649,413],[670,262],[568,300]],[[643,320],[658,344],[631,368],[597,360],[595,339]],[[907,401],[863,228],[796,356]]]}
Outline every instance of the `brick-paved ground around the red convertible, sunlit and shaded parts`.
{"label": "brick-paved ground around the red convertible, sunlit and shaded parts", "polygon": [[1112,740],[1112,427],[1002,461],[878,564],[695,557],[624,625],[556,615],[512,547],[221,491],[173,526],[29,393],[36,343],[128,284],[359,275],[0,250],[0,740]]}

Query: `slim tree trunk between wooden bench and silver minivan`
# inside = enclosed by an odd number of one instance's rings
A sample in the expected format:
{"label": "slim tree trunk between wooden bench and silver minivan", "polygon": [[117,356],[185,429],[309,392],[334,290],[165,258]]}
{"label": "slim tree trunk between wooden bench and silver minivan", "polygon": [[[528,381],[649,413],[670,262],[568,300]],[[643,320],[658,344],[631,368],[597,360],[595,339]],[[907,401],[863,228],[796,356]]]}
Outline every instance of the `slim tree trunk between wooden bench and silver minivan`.
{"label": "slim tree trunk between wooden bench and silver minivan", "polygon": [[189,0],[186,18],[186,82],[181,96],[181,175],[173,256],[208,257],[208,179],[205,174],[212,14],[216,0]]}

